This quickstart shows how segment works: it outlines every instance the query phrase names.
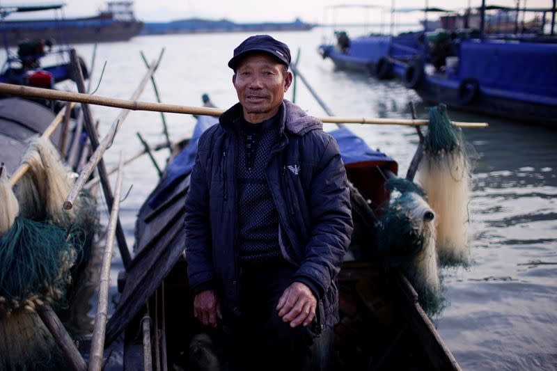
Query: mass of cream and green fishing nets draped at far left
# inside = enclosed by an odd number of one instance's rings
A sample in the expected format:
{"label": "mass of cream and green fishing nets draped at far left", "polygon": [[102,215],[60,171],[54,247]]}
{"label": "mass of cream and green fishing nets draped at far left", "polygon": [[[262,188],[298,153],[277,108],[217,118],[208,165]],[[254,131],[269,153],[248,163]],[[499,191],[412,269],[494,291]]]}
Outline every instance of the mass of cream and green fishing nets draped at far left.
{"label": "mass of cream and green fishing nets draped at far left", "polygon": [[36,308],[71,300],[72,277],[98,225],[95,198],[81,192],[70,212],[62,209],[70,171],[48,139],[34,140],[22,161],[29,171],[18,199],[0,177],[0,370],[68,370]]}

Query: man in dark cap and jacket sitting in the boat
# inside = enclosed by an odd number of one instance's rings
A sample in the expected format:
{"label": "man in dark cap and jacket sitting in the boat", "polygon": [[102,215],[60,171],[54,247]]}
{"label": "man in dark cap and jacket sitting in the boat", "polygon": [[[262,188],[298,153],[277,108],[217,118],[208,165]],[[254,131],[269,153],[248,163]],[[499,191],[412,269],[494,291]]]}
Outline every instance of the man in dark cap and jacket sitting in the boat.
{"label": "man in dark cap and jacket sitting in the boat", "polygon": [[331,355],[352,217],[336,141],[283,99],[289,64],[269,35],[234,50],[240,102],[199,140],[185,230],[194,315],[222,319],[240,361],[292,370]]}

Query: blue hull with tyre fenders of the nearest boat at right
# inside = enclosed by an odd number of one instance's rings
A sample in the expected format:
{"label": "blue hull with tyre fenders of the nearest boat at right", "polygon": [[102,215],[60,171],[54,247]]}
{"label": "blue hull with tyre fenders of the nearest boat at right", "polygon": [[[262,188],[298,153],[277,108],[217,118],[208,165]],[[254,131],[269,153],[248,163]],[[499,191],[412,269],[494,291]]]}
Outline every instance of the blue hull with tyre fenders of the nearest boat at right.
{"label": "blue hull with tyre fenders of the nearest boat at right", "polygon": [[[557,43],[464,40],[441,69],[416,59],[402,77],[427,102],[557,125]],[[449,58],[447,58],[449,60]]]}

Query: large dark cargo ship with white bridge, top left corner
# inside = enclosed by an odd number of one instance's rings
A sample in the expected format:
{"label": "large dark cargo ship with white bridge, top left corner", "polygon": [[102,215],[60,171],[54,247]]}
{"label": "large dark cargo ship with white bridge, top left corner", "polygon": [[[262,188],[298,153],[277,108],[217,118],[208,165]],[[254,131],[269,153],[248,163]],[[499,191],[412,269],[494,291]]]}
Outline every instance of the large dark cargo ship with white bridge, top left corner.
{"label": "large dark cargo ship with white bridge, top left corner", "polygon": [[109,1],[107,9],[93,17],[73,19],[29,19],[6,21],[11,13],[38,10],[62,10],[64,3],[38,6],[0,6],[0,33],[10,46],[25,39],[48,40],[66,44],[127,41],[143,29],[134,17],[133,1]]}

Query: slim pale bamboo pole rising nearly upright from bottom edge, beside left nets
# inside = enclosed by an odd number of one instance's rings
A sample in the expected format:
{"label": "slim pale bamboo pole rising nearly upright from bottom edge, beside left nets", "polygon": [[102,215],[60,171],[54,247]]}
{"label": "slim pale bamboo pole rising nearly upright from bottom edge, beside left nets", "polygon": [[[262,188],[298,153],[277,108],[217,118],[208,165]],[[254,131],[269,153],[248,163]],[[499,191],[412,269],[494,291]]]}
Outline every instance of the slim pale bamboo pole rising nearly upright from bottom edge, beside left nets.
{"label": "slim pale bamboo pole rising nearly upright from bottom edge, beside left nets", "polygon": [[102,367],[104,352],[104,335],[106,333],[108,306],[109,306],[109,286],[110,286],[110,265],[114,250],[114,237],[116,235],[116,224],[118,222],[118,212],[120,211],[120,198],[122,194],[122,178],[124,168],[124,153],[120,152],[120,164],[118,165],[118,179],[114,191],[115,202],[110,212],[109,227],[107,230],[107,244],[104,246],[102,254],[102,265],[100,269],[99,299],[97,302],[97,314],[95,315],[95,325],[93,329],[93,339],[91,340],[91,352],[89,356],[89,371],[100,371]]}

